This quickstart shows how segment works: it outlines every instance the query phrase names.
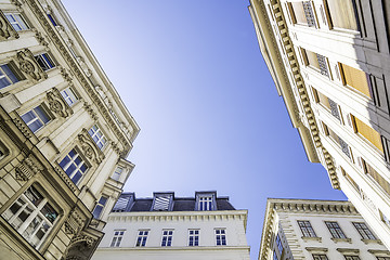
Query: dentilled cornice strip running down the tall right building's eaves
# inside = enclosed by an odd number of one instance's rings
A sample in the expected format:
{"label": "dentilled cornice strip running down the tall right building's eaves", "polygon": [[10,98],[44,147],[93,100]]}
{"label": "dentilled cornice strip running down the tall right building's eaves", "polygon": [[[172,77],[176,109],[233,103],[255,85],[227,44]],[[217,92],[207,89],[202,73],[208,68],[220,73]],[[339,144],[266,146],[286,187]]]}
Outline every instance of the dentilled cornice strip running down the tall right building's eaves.
{"label": "dentilled cornice strip running down the tall right building's eaves", "polygon": [[[266,10],[263,6],[263,0],[258,0],[258,2],[260,3],[260,6],[263,9],[262,14],[266,15]],[[261,4],[262,3],[262,4]],[[280,3],[280,0],[270,0],[271,3],[271,12],[273,12],[274,17],[276,20],[276,26],[275,28],[278,29],[280,35],[281,35],[281,40],[282,40],[282,46],[281,48],[284,49],[286,56],[288,57],[288,62],[289,62],[289,68],[285,69],[290,69],[294,80],[294,83],[297,86],[298,89],[298,93],[299,93],[299,99],[300,102],[303,106],[303,110],[304,110],[304,116],[307,118],[307,121],[309,123],[309,131],[310,131],[310,135],[312,138],[312,141],[314,143],[314,146],[316,148],[318,148],[325,158],[325,168],[329,174],[329,179],[330,179],[330,183],[333,185],[334,188],[340,190],[340,184],[337,178],[337,173],[336,173],[336,167],[334,165],[332,155],[327,152],[327,150],[323,146],[322,142],[321,142],[321,138],[320,138],[320,131],[318,131],[318,127],[316,125],[315,121],[315,117],[314,117],[314,113],[313,109],[311,107],[310,104],[310,100],[309,100],[309,95],[304,86],[304,81],[303,81],[303,77],[300,74],[300,68],[299,68],[299,63],[297,60],[297,55],[295,53],[294,50],[294,44],[291,39],[289,38],[289,34],[288,34],[288,27],[282,11],[282,6]],[[259,21],[260,22],[260,21]],[[272,32],[271,34],[273,38],[275,38],[275,35]],[[277,47],[274,47],[277,49]],[[290,87],[291,88],[291,87]]]}

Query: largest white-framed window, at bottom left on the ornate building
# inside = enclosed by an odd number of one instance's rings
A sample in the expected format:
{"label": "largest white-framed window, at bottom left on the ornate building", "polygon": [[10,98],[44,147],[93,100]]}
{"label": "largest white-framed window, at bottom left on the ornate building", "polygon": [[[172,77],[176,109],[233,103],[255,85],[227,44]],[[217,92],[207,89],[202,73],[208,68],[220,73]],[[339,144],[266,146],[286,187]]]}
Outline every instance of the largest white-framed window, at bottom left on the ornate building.
{"label": "largest white-framed window, at bottom left on the ornate building", "polygon": [[37,188],[30,186],[1,214],[35,248],[38,248],[58,213]]}

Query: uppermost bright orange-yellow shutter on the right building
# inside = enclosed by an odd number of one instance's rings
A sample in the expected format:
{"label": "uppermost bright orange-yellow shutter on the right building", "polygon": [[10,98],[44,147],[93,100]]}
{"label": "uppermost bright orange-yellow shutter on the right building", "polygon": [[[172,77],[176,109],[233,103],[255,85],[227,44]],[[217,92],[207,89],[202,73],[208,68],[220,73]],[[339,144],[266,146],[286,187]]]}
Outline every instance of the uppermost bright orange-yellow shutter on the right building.
{"label": "uppermost bright orange-yellow shutter on the right building", "polygon": [[346,84],[359,90],[363,94],[370,98],[367,76],[364,72],[340,64]]}

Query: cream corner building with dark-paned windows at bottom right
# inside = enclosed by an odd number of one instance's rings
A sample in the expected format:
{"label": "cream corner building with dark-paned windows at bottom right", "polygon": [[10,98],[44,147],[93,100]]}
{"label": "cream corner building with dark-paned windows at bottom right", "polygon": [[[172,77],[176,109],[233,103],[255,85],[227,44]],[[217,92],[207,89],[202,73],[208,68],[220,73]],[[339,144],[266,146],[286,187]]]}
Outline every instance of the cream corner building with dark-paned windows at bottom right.
{"label": "cream corner building with dark-paned windows at bottom right", "polygon": [[388,260],[390,252],[349,202],[269,198],[260,260]]}

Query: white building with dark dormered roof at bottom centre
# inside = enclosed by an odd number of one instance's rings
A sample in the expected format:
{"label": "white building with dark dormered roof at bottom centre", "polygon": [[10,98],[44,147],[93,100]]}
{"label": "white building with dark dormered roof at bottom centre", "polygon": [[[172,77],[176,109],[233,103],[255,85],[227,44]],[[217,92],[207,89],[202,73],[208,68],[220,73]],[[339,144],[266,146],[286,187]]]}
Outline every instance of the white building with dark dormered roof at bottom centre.
{"label": "white building with dark dormered roof at bottom centre", "polygon": [[247,210],[236,210],[216,192],[153,198],[123,193],[92,259],[249,260],[246,222]]}

